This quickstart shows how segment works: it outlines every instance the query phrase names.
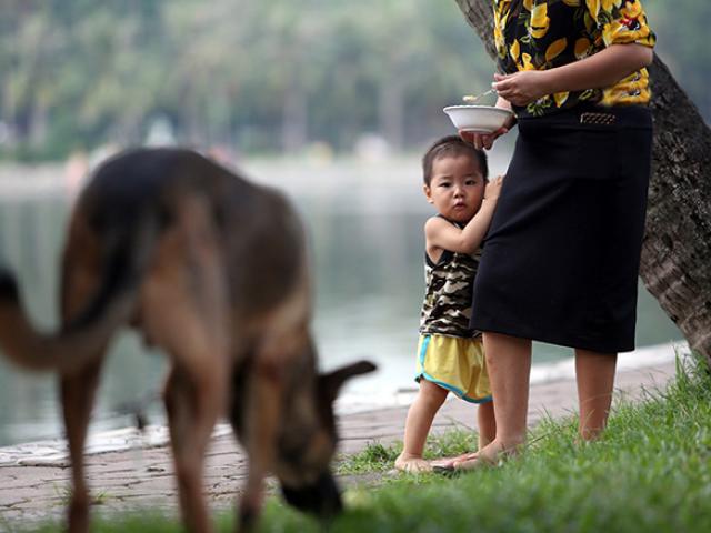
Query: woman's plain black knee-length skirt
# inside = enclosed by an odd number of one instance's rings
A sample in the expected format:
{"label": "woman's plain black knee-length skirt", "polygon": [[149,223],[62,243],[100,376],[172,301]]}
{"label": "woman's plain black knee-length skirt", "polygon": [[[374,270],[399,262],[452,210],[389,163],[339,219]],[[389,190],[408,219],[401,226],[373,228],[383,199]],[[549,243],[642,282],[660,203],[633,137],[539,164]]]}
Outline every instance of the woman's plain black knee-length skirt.
{"label": "woman's plain black knee-length skirt", "polygon": [[651,141],[644,107],[519,122],[474,282],[472,328],[634,350]]}

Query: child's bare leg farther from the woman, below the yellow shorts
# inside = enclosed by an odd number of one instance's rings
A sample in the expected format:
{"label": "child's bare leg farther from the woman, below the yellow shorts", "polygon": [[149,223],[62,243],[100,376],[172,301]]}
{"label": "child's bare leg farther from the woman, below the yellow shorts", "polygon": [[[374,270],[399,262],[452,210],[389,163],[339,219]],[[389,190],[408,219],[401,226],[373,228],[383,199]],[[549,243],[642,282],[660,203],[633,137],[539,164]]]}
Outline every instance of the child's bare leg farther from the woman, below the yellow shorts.
{"label": "child's bare leg farther from the woman, below the yellow shorts", "polygon": [[428,472],[430,463],[422,459],[424,442],[434,415],[444,403],[448,391],[425,379],[420,380],[420,392],[410,405],[404,423],[404,445],[395,460],[395,469],[405,472]]}

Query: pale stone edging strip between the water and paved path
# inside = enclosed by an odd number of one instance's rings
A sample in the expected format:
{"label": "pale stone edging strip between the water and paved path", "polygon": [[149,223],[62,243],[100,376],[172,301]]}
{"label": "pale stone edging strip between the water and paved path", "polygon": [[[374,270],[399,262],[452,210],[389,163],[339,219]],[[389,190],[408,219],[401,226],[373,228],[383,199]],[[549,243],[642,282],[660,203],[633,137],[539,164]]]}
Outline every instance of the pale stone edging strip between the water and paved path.
{"label": "pale stone edging strip between the water and paved path", "polygon": [[[653,346],[644,346],[634,352],[623,353],[618,359],[618,374],[640,369],[664,366],[675,362],[677,354],[689,352],[685,342],[670,342]],[[537,385],[554,385],[558,382],[574,380],[574,360],[572,358],[552,363],[534,364],[531,370],[531,388]],[[417,389],[395,391],[384,394],[377,401],[362,401],[362,394],[344,394],[334,405],[339,418],[352,415],[377,414],[380,411],[405,409],[414,399]],[[455,401],[450,395],[448,403]],[[231,434],[228,423],[218,423],[212,439]],[[97,455],[112,452],[127,452],[167,446],[169,442],[166,425],[148,425],[141,433],[134,426],[89,433],[84,455]],[[0,447],[0,467],[20,466],[67,466],[67,443],[63,438],[24,442]]]}

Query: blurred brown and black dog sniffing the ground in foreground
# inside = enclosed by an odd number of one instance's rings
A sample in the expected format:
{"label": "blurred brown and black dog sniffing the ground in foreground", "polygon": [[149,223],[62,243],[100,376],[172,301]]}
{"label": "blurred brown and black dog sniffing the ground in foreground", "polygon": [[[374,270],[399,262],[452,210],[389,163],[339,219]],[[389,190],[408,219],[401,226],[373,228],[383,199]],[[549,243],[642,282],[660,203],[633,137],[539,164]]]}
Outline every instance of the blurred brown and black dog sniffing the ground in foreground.
{"label": "blurred brown and black dog sniffing the ground in foreground", "polygon": [[374,365],[317,374],[304,250],[300,221],[276,190],[190,150],[136,149],[104,162],[72,211],[58,332],[32,326],[2,269],[0,348],[20,366],[59,374],[71,532],[89,529],[87,426],[107,346],[124,325],[170,359],[163,399],[190,531],[211,530],[202,471],[223,414],[249,459],[239,529],[256,523],[268,473],[292,505],[324,517],[341,510],[332,402]]}

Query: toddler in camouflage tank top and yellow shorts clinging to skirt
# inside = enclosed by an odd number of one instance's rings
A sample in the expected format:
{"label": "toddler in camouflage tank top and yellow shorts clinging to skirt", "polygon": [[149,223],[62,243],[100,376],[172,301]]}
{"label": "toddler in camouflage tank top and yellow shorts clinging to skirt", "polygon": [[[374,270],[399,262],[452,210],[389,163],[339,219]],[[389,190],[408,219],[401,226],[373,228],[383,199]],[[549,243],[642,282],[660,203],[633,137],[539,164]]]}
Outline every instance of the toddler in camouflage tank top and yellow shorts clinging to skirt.
{"label": "toddler in camouflage tank top and yellow shorts clinging to skirt", "polygon": [[420,319],[418,396],[404,428],[395,467],[427,472],[422,459],[432,420],[447,394],[478,403],[479,446],[495,436],[493,402],[481,333],[469,328],[480,245],[502,178],[489,182],[487,155],[459,137],[437,141],[422,159],[424,195],[438,211],[424,224],[425,296]]}

